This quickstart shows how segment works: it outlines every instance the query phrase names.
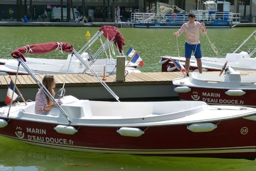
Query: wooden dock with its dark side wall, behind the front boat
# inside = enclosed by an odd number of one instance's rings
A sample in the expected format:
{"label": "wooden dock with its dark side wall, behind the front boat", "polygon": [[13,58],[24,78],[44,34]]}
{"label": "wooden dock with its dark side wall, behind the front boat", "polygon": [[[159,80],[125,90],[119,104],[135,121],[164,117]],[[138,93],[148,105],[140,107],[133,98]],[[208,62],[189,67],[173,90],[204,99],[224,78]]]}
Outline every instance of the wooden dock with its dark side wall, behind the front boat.
{"label": "wooden dock with its dark side wall, behind the front boat", "polygon": [[[44,75],[37,77],[41,80]],[[55,91],[62,87],[65,77],[65,74],[54,75]],[[173,91],[172,80],[180,77],[183,77],[181,72],[143,72],[129,73],[123,82],[115,81],[115,75],[110,75],[106,77],[105,82],[120,99],[168,99],[178,96]],[[12,76],[12,79],[14,81],[15,76]],[[9,83],[8,75],[0,76],[0,102],[5,101]],[[35,99],[39,87],[30,75],[18,75],[16,85],[26,100]],[[73,95],[78,99],[114,100],[101,83],[88,74],[68,74],[65,88],[66,95]],[[21,101],[21,99],[17,100]]]}

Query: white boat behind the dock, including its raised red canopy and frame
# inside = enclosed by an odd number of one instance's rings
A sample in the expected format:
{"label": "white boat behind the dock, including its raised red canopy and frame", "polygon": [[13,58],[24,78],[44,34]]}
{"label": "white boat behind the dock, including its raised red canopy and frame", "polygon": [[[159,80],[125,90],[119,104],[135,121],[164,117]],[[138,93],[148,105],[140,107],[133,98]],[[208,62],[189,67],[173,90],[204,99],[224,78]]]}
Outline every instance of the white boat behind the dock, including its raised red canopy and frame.
{"label": "white boat behind the dock, including its raised red canopy and frame", "polygon": [[[103,43],[104,35],[107,39]],[[122,39],[121,42],[118,40]],[[96,40],[100,40],[101,46],[96,52],[92,52],[91,46],[93,46]],[[114,45],[117,46],[115,52]],[[119,30],[114,26],[102,26],[101,29],[88,40],[88,43],[84,45],[80,53],[81,57],[91,66],[96,73],[116,73],[116,59],[112,56],[123,56],[123,44],[124,39],[122,38]],[[29,50],[29,47],[27,47]],[[88,51],[88,52],[86,52]],[[109,52],[108,52],[109,51]],[[121,52],[120,52],[121,51]],[[112,53],[112,55],[111,55]],[[100,59],[102,54],[105,55],[104,59]],[[27,65],[35,74],[65,74],[68,70],[69,73],[90,73],[86,66],[84,66],[79,59],[72,58],[69,54],[67,59],[39,59],[39,58],[27,58]],[[128,73],[141,72],[138,70],[134,63],[131,61],[125,62],[125,71]],[[14,59],[0,59],[0,75],[13,75],[16,74],[18,68],[18,62]],[[19,70],[19,74],[28,74],[27,71],[22,68]]]}

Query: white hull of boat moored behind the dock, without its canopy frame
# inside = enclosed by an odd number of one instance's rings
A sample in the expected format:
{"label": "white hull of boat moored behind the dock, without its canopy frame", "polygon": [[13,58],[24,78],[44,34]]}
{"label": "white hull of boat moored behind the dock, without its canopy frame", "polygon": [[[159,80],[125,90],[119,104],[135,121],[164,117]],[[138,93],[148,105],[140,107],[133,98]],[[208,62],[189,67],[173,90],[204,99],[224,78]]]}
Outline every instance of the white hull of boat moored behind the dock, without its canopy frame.
{"label": "white hull of boat moored behind the dock, without its canopy frame", "polygon": [[[84,60],[88,61],[88,53],[81,55]],[[82,65],[79,59],[72,58],[69,54],[67,59],[41,59],[41,58],[26,58],[27,65],[35,74],[65,74],[69,73],[89,73],[87,67]],[[0,75],[15,75],[18,68],[18,61],[14,59],[0,59]],[[126,61],[127,65],[128,61]],[[68,66],[70,67],[68,68]],[[91,65],[96,73],[116,73],[116,59],[96,59]],[[136,66],[131,64],[125,67],[125,70],[129,73],[141,72],[135,68]],[[20,66],[19,74],[28,74],[27,71]]]}

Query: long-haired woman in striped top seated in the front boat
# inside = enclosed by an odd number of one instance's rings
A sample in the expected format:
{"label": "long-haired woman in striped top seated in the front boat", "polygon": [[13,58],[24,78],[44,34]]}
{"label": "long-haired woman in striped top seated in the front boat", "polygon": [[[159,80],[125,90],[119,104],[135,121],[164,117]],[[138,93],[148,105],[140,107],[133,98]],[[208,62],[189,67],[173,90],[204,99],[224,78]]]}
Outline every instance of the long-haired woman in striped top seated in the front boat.
{"label": "long-haired woman in striped top seated in the front boat", "polygon": [[[54,97],[55,92],[55,80],[53,75],[46,75],[42,80],[43,85],[47,88],[47,90],[52,94]],[[48,98],[48,96],[40,89],[35,97],[35,113],[40,115],[47,115],[52,108],[55,107],[52,100]]]}

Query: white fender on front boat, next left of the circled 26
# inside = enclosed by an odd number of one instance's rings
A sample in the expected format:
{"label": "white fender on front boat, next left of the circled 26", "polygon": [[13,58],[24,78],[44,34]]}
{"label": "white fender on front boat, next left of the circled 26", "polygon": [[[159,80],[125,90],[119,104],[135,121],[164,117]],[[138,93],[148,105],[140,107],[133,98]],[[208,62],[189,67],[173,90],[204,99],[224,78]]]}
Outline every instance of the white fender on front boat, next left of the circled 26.
{"label": "white fender on front boat, next left of the circled 26", "polygon": [[192,132],[210,132],[217,128],[217,125],[212,123],[192,124],[187,126],[187,129]]}

